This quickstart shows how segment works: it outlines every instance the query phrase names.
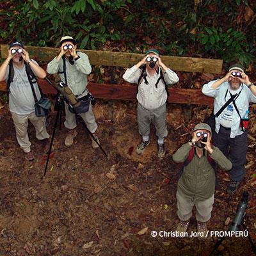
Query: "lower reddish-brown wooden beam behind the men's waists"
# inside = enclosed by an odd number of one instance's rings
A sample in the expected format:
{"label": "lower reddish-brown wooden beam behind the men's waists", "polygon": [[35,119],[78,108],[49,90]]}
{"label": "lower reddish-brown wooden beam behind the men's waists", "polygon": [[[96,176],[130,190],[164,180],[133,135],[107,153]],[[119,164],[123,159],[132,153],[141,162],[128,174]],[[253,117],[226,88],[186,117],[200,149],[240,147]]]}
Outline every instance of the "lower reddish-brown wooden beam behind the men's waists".
{"label": "lower reddish-brown wooden beam behind the men's waists", "polygon": [[[38,79],[38,84],[44,93],[56,94],[56,90],[44,79]],[[88,90],[95,98],[99,99],[136,100],[136,86],[89,83]],[[0,82],[0,91],[6,91],[5,82]],[[213,103],[213,98],[205,96],[201,90],[168,88],[168,91],[170,93],[169,103],[196,105],[211,105]]]}

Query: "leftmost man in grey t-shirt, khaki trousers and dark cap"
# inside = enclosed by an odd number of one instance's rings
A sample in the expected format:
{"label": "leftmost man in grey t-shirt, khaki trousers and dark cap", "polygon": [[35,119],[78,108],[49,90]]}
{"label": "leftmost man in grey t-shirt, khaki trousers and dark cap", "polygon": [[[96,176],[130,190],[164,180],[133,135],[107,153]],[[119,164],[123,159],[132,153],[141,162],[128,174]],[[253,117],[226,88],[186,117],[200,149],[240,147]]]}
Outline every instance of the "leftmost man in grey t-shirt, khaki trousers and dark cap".
{"label": "leftmost man in grey t-shirt, khaki trousers and dark cap", "polygon": [[[33,72],[31,75],[26,72],[29,67]],[[8,57],[0,67],[0,81],[6,79],[9,108],[15,125],[17,141],[25,153],[25,158],[28,161],[33,161],[34,155],[28,136],[28,122],[30,121],[35,127],[36,138],[43,142],[45,152],[48,152],[50,148],[48,140],[50,136],[46,131],[45,117],[35,115],[35,98],[28,76],[33,80],[35,95],[39,100],[41,94],[36,77],[44,79],[46,72],[39,67],[35,60],[29,58],[29,53],[21,42],[13,42],[10,44]]]}

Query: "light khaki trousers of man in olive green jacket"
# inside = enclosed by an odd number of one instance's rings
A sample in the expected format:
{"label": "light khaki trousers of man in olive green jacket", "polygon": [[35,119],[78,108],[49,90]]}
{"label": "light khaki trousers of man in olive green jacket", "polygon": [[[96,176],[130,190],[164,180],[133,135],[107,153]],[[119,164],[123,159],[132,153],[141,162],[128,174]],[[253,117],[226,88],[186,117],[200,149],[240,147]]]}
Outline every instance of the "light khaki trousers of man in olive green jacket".
{"label": "light khaki trousers of man in olive green jacket", "polygon": [[211,219],[212,205],[214,203],[214,195],[202,202],[194,202],[188,198],[184,198],[177,191],[177,207],[178,217],[180,220],[186,221],[192,216],[192,210],[196,207],[196,220],[206,222]]}

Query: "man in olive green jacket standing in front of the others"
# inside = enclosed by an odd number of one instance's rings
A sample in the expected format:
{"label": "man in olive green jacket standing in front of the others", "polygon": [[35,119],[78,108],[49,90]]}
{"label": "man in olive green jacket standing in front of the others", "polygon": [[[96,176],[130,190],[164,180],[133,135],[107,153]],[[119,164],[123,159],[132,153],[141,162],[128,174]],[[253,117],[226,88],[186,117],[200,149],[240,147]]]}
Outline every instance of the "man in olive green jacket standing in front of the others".
{"label": "man in olive green jacket standing in front of the others", "polygon": [[180,236],[184,236],[188,228],[189,218],[192,216],[192,209],[195,205],[196,220],[198,221],[197,232],[201,234],[198,239],[207,238],[205,222],[211,218],[217,179],[216,170],[211,161],[224,170],[232,168],[232,163],[221,150],[211,145],[211,134],[209,125],[204,123],[196,125],[192,139],[173,154],[175,163],[184,163],[190,156],[188,163],[182,165],[176,194],[177,213],[180,219],[176,231]]}

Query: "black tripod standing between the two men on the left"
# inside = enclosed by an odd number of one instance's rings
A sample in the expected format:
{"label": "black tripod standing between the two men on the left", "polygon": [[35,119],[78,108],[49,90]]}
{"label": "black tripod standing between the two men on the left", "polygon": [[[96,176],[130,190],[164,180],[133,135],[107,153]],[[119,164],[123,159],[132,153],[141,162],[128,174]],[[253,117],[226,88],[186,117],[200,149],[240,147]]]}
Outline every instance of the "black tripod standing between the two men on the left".
{"label": "black tripod standing between the two men on the left", "polygon": [[70,108],[72,108],[72,110],[74,111],[74,114],[79,118],[81,124],[83,124],[84,128],[86,129],[86,131],[90,134],[90,136],[92,137],[92,139],[97,143],[97,145],[99,146],[99,148],[102,150],[102,152],[104,153],[104,155],[106,157],[108,157],[108,155],[106,154],[106,152],[104,151],[104,149],[100,146],[100,143],[97,141],[97,139],[93,136],[92,132],[90,132],[90,130],[88,129],[88,127],[86,126],[83,118],[76,112],[76,109],[72,107],[72,105],[70,104],[68,98],[65,96],[64,93],[62,93],[63,97],[61,97],[61,92],[60,90],[58,89],[57,86],[55,86],[54,84],[52,84],[51,80],[48,78],[48,77],[45,77],[45,80],[51,84],[51,86],[58,92],[57,94],[57,100],[56,100],[56,104],[54,106],[54,109],[57,110],[57,114],[56,114],[56,118],[55,118],[55,122],[54,122],[54,127],[53,127],[53,132],[52,132],[52,138],[51,138],[51,143],[50,143],[50,148],[49,148],[49,151],[47,152],[47,161],[46,161],[46,165],[45,165],[45,170],[44,170],[44,176],[43,176],[43,179],[45,178],[45,175],[46,175],[46,172],[47,172],[47,166],[48,166],[48,163],[49,163],[49,159],[50,159],[50,154],[51,154],[51,148],[52,148],[52,142],[53,142],[53,139],[54,139],[54,134],[55,134],[55,131],[56,131],[56,128],[57,128],[57,124],[58,124],[58,119],[59,119],[59,116],[60,116],[60,125],[61,125],[61,112],[62,112],[62,109],[64,109],[65,111],[65,108],[64,108],[64,101],[68,104],[68,106]]}

